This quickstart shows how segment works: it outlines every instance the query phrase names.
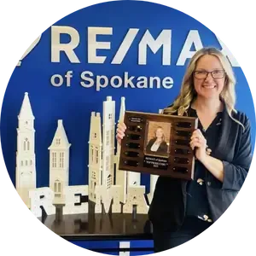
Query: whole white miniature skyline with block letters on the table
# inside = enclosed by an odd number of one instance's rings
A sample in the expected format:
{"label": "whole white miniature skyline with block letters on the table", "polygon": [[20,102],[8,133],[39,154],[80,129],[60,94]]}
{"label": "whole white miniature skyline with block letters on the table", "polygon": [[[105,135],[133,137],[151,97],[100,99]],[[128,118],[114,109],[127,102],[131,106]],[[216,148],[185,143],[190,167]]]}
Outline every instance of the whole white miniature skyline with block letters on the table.
{"label": "whole white miniature skyline with block letters on the table", "polygon": [[[118,122],[125,116],[125,97],[121,97]],[[55,205],[63,206],[63,214],[88,213],[88,203],[79,203],[76,194],[88,195],[96,203],[95,212],[109,211],[131,213],[137,205],[138,214],[148,213],[148,204],[144,194],[146,188],[141,185],[141,173],[119,170],[120,146],[115,148],[115,102],[107,96],[101,113],[92,112],[90,116],[90,135],[88,153],[88,184],[69,185],[69,150],[71,143],[67,138],[62,119],[57,120],[57,128],[49,145],[49,187],[37,188],[37,170],[35,154],[35,117],[28,93],[25,96],[18,115],[16,186],[15,190],[25,207],[35,218],[42,215],[41,207],[48,215],[55,214]],[[116,150],[115,150],[116,149]],[[116,151],[116,152],[115,152]],[[115,170],[115,172],[114,172]],[[115,177],[115,180],[114,180]],[[154,194],[156,175],[150,175],[149,204]]]}

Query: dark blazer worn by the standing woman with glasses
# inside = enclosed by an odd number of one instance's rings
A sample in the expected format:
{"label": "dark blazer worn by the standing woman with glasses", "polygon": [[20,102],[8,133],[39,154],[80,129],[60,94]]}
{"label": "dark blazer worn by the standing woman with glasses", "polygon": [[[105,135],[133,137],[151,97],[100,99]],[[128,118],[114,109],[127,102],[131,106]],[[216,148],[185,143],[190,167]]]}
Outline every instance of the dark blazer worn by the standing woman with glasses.
{"label": "dark blazer worn by the standing woman with glasses", "polygon": [[[234,113],[233,117],[245,126],[237,124],[224,108],[221,136],[218,148],[212,157],[224,163],[224,182],[221,183],[207,171],[207,197],[212,222],[218,221],[227,212],[247,181],[253,164],[251,125],[245,113]],[[154,197],[148,211],[148,218],[154,227],[175,231],[183,224],[186,210],[186,184],[184,180],[172,177],[158,177]]]}

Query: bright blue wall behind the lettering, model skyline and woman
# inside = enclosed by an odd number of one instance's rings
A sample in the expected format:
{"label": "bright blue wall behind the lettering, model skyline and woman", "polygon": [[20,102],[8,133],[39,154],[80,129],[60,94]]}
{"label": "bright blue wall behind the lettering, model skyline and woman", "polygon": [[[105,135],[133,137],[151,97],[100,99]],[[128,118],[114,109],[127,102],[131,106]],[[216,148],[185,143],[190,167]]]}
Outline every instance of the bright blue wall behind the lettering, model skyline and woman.
{"label": "bright blue wall behind the lettering, model skyline and woman", "polygon": [[[71,63],[67,55],[61,53],[60,62],[51,62],[52,26],[72,26],[79,34],[79,45],[74,49],[80,63]],[[52,26],[44,29],[42,38],[32,51],[26,55],[20,67],[15,67],[9,76],[8,84],[3,92],[1,104],[1,137],[0,148],[3,163],[10,181],[15,184],[15,151],[17,115],[20,111],[24,93],[29,93],[32,110],[36,117],[36,157],[38,187],[49,185],[49,150],[47,149],[55,134],[57,119],[63,119],[67,137],[72,143],[70,154],[70,185],[88,183],[88,140],[90,129],[90,113],[102,113],[102,102],[107,96],[116,101],[116,119],[119,116],[120,97],[125,96],[127,110],[157,113],[165,108],[177,96],[183,73],[189,59],[184,65],[177,66],[177,60],[191,30],[199,33],[203,46],[216,46],[222,49],[215,32],[192,15],[183,10],[172,8],[164,3],[143,0],[113,0],[94,3],[77,9],[56,20]],[[97,49],[96,55],[106,56],[102,64],[88,63],[88,26],[113,28],[113,35],[97,36],[97,41],[111,42],[111,49]],[[123,42],[130,28],[137,28],[137,36],[131,44],[121,64],[111,64],[114,55]],[[157,38],[162,30],[172,30],[171,63],[162,65],[162,49],[157,53],[148,48],[147,64],[138,65],[138,45],[148,30]],[[61,35],[61,43],[68,43],[70,38]],[[190,50],[194,50],[195,45]],[[142,54],[142,53],[141,53]],[[54,74],[64,75],[73,71],[71,86],[63,84],[55,87],[50,84]],[[113,88],[110,85],[97,91],[95,86],[84,88],[80,74],[90,71],[96,75],[106,75],[109,79],[114,75],[123,77],[125,72],[134,76],[172,77],[172,89],[138,89]],[[247,113],[255,127],[255,106],[253,94],[246,73],[241,67],[234,67],[236,73],[236,108]],[[154,102],[153,102],[154,99]],[[256,137],[253,136],[253,150],[256,148]],[[143,175],[142,184],[149,189],[149,177]]]}

